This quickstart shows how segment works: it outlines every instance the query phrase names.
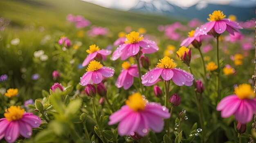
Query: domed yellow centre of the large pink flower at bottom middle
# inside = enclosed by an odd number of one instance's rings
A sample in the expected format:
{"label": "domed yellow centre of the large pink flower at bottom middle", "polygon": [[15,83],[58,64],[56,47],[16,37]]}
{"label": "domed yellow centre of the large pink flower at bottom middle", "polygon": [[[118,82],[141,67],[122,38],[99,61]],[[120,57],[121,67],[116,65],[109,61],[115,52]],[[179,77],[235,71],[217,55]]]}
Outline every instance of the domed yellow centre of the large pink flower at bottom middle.
{"label": "domed yellow centre of the large pink flower at bottom middle", "polygon": [[139,93],[134,93],[128,97],[128,100],[125,101],[126,105],[129,106],[134,111],[144,110],[146,105],[146,100]]}

